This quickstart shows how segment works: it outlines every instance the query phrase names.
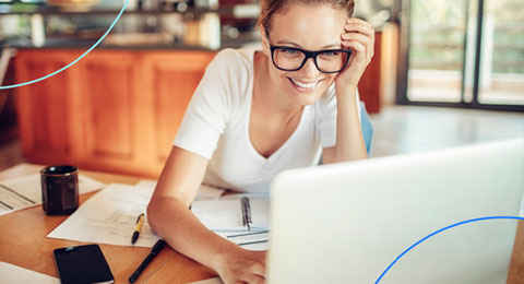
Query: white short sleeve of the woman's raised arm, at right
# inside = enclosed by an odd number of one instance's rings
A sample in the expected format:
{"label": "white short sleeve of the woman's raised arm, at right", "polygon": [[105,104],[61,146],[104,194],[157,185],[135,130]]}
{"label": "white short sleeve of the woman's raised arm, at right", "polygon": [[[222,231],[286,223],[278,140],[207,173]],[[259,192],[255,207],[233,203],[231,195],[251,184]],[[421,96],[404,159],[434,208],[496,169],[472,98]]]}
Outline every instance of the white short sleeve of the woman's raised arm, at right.
{"label": "white short sleeve of the woman's raised arm, at right", "polygon": [[[360,96],[355,96],[358,106],[358,119],[360,120]],[[321,96],[318,103],[319,117],[317,120],[318,137],[322,149],[336,145],[336,95],[335,84],[331,85]]]}

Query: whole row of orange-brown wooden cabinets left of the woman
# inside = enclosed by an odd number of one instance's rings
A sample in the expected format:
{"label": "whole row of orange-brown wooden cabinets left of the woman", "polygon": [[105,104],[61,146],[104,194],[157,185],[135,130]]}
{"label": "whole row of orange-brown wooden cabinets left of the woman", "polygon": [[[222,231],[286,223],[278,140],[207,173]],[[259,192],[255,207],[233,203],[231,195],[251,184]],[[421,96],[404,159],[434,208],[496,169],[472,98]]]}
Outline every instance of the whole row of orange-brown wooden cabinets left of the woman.
{"label": "whole row of orange-brown wooden cabinets left of the woman", "polygon": [[[48,74],[81,54],[74,49],[20,50],[16,81]],[[19,87],[25,158],[157,177],[214,55],[95,50],[58,75]]]}

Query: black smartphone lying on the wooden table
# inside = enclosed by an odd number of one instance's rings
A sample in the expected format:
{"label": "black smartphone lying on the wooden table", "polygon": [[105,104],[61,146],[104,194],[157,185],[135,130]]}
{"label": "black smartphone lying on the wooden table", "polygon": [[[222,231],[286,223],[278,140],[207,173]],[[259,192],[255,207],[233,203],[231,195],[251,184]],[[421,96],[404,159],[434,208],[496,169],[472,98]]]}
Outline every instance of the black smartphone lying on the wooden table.
{"label": "black smartphone lying on the wooden table", "polygon": [[58,248],[53,255],[62,284],[115,282],[98,245]]}

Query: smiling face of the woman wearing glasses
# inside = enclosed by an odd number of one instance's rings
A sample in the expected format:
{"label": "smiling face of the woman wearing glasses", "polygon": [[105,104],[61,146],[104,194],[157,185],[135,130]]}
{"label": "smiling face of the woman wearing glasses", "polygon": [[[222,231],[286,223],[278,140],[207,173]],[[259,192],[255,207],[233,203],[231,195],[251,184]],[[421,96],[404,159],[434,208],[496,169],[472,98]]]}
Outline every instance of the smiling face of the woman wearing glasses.
{"label": "smiling face of the woman wearing glasses", "polygon": [[274,46],[297,47],[317,51],[341,49],[341,35],[346,23],[346,12],[330,5],[307,5],[291,3],[285,12],[273,14],[271,19],[270,42],[261,28],[263,50],[269,57],[269,73],[278,95],[290,99],[291,104],[305,106],[314,103],[333,83],[337,73],[320,72],[312,58],[309,58],[297,71],[278,70],[271,60],[271,43]]}

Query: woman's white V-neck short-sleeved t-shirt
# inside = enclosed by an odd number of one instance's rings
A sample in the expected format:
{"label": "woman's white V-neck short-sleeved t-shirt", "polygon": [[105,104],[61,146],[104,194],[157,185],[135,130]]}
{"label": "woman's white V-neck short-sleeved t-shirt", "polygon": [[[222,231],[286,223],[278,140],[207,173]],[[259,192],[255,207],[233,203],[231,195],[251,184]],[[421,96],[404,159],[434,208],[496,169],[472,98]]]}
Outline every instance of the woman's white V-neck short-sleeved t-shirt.
{"label": "woman's white V-neck short-sleeved t-shirt", "polygon": [[[282,170],[317,165],[321,146],[336,142],[332,85],[306,106],[289,139],[265,158],[251,144],[249,118],[255,49],[224,49],[207,66],[174,144],[210,159],[203,184],[237,191],[266,191]],[[357,95],[357,102],[358,102]]]}

